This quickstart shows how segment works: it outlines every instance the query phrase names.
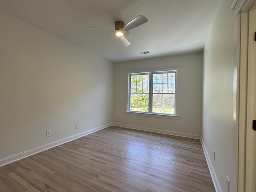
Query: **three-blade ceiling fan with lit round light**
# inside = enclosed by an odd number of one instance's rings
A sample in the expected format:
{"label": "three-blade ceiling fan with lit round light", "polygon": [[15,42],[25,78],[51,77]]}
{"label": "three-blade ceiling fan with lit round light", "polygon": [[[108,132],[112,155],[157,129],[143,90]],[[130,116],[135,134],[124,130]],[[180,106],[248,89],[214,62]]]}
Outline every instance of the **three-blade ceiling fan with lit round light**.
{"label": "three-blade ceiling fan with lit round light", "polygon": [[124,26],[123,21],[116,21],[115,22],[115,30],[104,30],[104,29],[98,29],[98,28],[92,28],[92,27],[85,27],[85,28],[114,33],[114,34],[116,34],[116,36],[121,38],[124,46],[127,47],[131,43],[124,36],[124,32],[131,30],[135,27],[138,27],[146,22],[148,22],[148,19],[143,15],[139,15],[138,17],[136,17],[133,20],[131,20],[130,22],[128,22],[128,24],[126,24],[125,26]]}

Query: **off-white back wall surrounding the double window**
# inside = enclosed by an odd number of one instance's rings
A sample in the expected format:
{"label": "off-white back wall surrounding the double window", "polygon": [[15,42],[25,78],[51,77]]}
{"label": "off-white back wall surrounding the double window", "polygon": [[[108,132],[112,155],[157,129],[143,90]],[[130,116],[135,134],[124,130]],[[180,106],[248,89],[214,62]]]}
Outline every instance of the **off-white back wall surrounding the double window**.
{"label": "off-white back wall surrounding the double window", "polygon": [[[168,119],[126,114],[126,70],[170,66],[180,66],[180,118]],[[202,66],[202,53],[115,63],[114,125],[190,137],[201,135]],[[119,116],[121,120],[118,120]],[[184,128],[180,128],[181,123],[184,123]]]}

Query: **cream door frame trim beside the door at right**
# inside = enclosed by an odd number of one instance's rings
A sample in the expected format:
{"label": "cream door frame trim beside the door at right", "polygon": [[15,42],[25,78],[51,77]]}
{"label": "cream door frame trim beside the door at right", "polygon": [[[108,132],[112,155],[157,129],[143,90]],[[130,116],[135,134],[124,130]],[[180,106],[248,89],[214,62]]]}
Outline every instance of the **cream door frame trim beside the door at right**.
{"label": "cream door frame trim beside the door at right", "polygon": [[[235,0],[239,4],[234,19],[237,22],[235,34],[237,34],[237,65],[234,66],[234,87],[236,86],[236,192],[249,192],[255,188],[255,182],[250,178],[250,170],[253,168],[250,160],[252,130],[250,120],[250,86],[252,78],[250,67],[253,60],[249,43],[249,18],[255,10],[255,0]],[[254,11],[255,12],[255,11]],[[236,40],[235,40],[236,42]],[[236,79],[236,81],[235,81]],[[235,85],[236,84],[236,85]],[[255,191],[255,190],[254,190]]]}

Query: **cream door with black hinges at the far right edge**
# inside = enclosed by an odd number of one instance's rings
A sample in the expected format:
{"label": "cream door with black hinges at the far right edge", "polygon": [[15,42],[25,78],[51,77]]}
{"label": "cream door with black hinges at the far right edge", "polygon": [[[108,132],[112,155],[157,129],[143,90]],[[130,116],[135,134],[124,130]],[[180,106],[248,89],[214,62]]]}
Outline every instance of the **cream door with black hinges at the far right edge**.
{"label": "cream door with black hinges at the far right edge", "polygon": [[[246,192],[256,192],[256,9],[249,14]],[[254,126],[254,127],[253,127]],[[255,129],[255,130],[254,130]]]}

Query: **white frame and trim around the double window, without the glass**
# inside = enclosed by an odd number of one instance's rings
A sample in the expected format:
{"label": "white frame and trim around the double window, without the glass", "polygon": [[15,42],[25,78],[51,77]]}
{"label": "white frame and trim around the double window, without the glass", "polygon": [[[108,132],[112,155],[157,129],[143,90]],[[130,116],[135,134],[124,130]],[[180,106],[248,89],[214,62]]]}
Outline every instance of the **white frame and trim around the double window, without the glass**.
{"label": "white frame and trim around the double window, without the glass", "polygon": [[[153,73],[168,73],[168,72],[174,72],[174,71],[176,72],[176,86],[175,86],[176,90],[175,90],[175,108],[174,108],[175,114],[130,111],[130,75],[148,74],[148,73],[152,75]],[[126,114],[179,119],[179,77],[180,77],[179,66],[175,66],[171,68],[154,68],[154,69],[146,69],[146,70],[144,69],[143,70],[127,70],[126,71]],[[151,80],[152,80],[152,77],[151,77]],[[149,93],[149,97],[152,96],[152,95],[150,96],[150,94],[152,94],[152,92]],[[149,106],[149,107],[152,107],[152,106]]]}

